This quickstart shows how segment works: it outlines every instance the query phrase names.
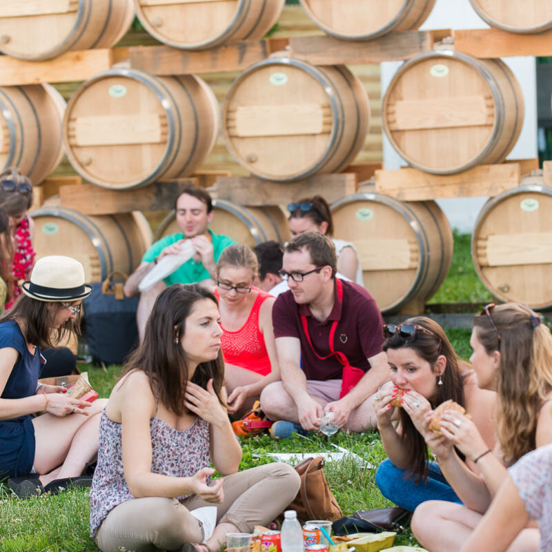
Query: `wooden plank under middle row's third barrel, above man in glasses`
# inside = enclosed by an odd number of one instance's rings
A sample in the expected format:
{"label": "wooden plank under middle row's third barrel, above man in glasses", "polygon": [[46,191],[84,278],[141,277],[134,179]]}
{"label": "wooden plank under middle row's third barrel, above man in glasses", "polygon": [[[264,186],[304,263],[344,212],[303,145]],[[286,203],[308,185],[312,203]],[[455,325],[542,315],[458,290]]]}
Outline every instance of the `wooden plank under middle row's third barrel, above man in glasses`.
{"label": "wooden plank under middle row's third barrel, above man in glasses", "polygon": [[217,178],[217,197],[240,205],[285,205],[297,197],[323,195],[328,203],[357,191],[357,177],[352,173],[314,175],[305,180],[279,183],[257,177]]}

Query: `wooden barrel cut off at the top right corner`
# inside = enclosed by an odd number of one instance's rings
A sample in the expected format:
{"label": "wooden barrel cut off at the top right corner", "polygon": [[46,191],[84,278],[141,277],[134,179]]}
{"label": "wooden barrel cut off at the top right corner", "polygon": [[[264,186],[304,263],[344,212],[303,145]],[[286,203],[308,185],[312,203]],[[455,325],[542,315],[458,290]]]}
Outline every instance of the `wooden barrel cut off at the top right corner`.
{"label": "wooden barrel cut off at the top right corner", "polygon": [[552,29],[552,3],[546,0],[470,0],[491,27],[534,33]]}

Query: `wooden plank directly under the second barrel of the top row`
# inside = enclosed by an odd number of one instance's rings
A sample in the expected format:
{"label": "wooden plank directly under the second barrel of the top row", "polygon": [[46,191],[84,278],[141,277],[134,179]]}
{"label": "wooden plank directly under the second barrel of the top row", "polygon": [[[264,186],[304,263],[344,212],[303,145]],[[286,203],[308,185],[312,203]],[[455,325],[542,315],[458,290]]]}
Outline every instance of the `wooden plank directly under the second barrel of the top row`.
{"label": "wooden plank directly under the second barrel of the top row", "polygon": [[150,75],[188,75],[221,71],[242,71],[266,59],[273,48],[284,48],[287,40],[250,40],[209,50],[178,50],[169,46],[130,48],[130,66]]}

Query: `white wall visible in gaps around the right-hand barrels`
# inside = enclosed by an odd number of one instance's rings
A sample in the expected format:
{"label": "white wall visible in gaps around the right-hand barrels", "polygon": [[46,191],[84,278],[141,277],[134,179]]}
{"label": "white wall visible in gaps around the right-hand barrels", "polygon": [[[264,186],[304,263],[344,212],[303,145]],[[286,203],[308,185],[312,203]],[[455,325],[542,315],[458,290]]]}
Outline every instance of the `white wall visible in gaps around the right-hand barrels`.
{"label": "white wall visible in gaps around the right-hand barrels", "polygon": [[[384,0],[385,1],[385,0]],[[437,0],[420,30],[429,29],[475,29],[489,26],[477,15],[469,0]],[[515,144],[508,159],[530,159],[537,157],[537,88],[534,57],[505,57],[503,61],[511,68],[523,90],[525,118],[520,139]],[[393,75],[402,65],[400,61],[386,61],[381,64],[382,97]],[[400,168],[406,161],[393,149],[384,135],[384,164],[387,169]],[[438,199],[437,203],[449,217],[451,226],[461,232],[471,232],[477,214],[486,197],[466,197],[458,199]]]}

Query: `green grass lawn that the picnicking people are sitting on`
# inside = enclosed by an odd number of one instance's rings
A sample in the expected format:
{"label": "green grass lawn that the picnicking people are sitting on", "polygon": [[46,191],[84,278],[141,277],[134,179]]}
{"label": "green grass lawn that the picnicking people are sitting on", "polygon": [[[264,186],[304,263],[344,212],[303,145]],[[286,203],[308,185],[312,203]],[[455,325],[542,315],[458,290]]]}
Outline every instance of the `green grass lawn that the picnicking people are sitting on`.
{"label": "green grass lawn that the picnicking people are sitting on", "polygon": [[[453,267],[434,302],[483,302],[490,295],[475,275],[469,253],[469,236],[455,234],[455,255]],[[456,351],[464,359],[470,355],[467,329],[446,331]],[[94,366],[83,366],[88,370],[90,383],[100,397],[108,397],[117,381],[121,366],[109,366],[107,371]],[[377,432],[337,433],[331,443],[343,446],[377,466],[385,459],[385,453]],[[326,437],[299,435],[289,440],[276,442],[267,435],[242,440],[244,456],[240,469],[247,469],[270,462],[263,455],[270,452],[317,453],[334,451],[328,446]],[[255,455],[261,455],[257,457]],[[351,515],[358,509],[376,509],[391,504],[375,486],[375,469],[362,469],[352,460],[328,462],[324,469],[344,515]],[[0,551],[1,552],[83,552],[97,551],[94,542],[88,538],[88,492],[86,490],[66,491],[57,496],[41,496],[30,500],[18,500],[0,489]],[[397,535],[395,544],[416,544],[407,528]]]}

